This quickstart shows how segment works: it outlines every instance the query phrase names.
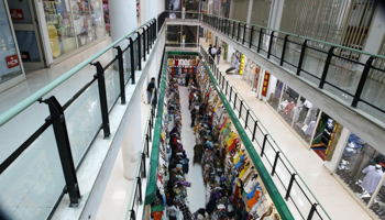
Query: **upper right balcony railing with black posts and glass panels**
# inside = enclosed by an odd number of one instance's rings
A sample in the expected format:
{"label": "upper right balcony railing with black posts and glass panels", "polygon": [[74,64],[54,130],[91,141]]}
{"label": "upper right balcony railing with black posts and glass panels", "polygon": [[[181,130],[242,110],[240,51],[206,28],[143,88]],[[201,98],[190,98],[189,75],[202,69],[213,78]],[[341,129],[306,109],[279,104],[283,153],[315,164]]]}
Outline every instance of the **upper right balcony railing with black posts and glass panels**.
{"label": "upper right balcony railing with black posts and glass panels", "polygon": [[385,56],[209,14],[201,21],[348,106],[385,121],[385,85],[374,77],[385,75],[381,65]]}

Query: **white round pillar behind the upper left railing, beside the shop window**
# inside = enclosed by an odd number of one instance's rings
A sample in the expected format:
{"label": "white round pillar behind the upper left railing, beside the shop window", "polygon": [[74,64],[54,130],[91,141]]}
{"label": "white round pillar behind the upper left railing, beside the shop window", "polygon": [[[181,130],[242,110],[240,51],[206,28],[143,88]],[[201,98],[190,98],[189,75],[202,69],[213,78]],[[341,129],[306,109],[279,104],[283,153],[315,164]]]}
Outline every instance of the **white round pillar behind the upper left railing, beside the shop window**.
{"label": "white round pillar behind the upper left railing, beside the shop window", "polygon": [[136,0],[109,1],[112,42],[138,28]]}

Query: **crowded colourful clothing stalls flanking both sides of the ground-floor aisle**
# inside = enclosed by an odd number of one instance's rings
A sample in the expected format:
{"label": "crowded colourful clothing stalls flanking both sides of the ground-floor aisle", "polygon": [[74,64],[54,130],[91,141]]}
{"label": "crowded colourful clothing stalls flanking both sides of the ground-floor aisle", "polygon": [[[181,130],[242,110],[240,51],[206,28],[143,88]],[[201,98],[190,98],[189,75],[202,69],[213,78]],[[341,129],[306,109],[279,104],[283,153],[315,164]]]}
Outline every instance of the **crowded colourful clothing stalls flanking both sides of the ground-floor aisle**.
{"label": "crowded colourful clothing stalls flanking both sides of the ground-floor aisle", "polygon": [[[278,215],[202,63],[197,61],[196,66],[185,67],[182,73],[191,73],[190,80],[180,84],[183,75],[177,74],[176,64],[180,66],[184,62],[167,62],[172,65],[167,67],[161,133],[161,157],[164,162],[160,164],[158,172],[158,191],[165,196],[167,206],[158,196],[152,204],[152,217],[158,219],[166,213],[168,219],[177,219],[180,213],[183,219],[188,220],[198,217],[256,220],[270,210]],[[188,96],[180,97],[179,86],[188,87]],[[180,98],[188,99],[190,113],[187,116],[191,116],[191,124],[188,125],[191,125],[196,140],[193,164],[200,166],[206,185],[205,208],[194,215],[189,210],[186,190],[191,184],[186,182],[189,160],[180,139]]]}

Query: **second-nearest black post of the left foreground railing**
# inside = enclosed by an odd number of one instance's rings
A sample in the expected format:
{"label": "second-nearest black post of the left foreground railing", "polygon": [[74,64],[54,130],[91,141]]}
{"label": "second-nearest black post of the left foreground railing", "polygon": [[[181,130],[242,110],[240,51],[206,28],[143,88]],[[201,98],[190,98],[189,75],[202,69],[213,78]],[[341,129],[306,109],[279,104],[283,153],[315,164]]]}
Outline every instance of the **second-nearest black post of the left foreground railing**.
{"label": "second-nearest black post of the left foreground railing", "polygon": [[98,87],[99,87],[99,99],[100,99],[100,111],[102,120],[102,129],[105,132],[105,139],[110,136],[110,121],[108,118],[108,106],[107,106],[107,95],[106,95],[106,80],[105,80],[105,69],[99,62],[92,63],[91,65],[97,67]]}

